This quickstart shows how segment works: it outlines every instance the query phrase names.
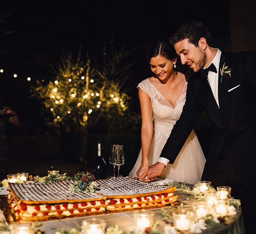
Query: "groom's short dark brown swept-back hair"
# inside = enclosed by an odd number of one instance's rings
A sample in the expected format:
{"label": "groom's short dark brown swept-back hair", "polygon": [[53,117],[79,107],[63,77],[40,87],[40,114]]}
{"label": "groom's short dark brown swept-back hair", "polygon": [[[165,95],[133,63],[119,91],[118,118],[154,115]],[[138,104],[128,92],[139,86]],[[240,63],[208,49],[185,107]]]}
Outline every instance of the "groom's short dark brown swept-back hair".
{"label": "groom's short dark brown swept-back hair", "polygon": [[209,29],[200,21],[188,21],[182,24],[179,29],[170,36],[170,44],[174,45],[179,41],[188,39],[190,43],[198,47],[200,38],[205,38],[210,47],[214,47]]}

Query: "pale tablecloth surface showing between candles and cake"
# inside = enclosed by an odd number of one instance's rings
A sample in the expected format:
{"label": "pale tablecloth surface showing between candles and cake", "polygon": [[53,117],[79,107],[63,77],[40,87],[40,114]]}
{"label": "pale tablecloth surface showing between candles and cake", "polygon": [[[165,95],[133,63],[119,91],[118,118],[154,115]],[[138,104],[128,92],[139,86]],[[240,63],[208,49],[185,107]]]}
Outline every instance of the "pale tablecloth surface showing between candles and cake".
{"label": "pale tablecloth surface showing between candles and cake", "polygon": [[[188,196],[185,193],[181,192],[180,189],[175,191],[175,194],[179,196],[178,202],[182,202],[184,207],[192,208],[192,202],[197,201],[193,199],[192,196]],[[187,200],[189,198],[189,200]],[[155,212],[155,220],[159,221],[159,226],[157,230],[164,233],[164,226],[166,225],[161,216],[161,209],[166,209],[168,206],[163,206],[160,208],[151,208]],[[0,209],[3,211],[4,216],[8,223],[11,223],[15,220],[15,217],[10,213],[10,208],[7,203],[7,196],[0,196]],[[89,216],[89,215],[88,215]],[[59,228],[65,228],[70,230],[71,228],[79,229],[81,223],[88,216],[78,217],[78,218],[64,218],[61,220],[49,220],[41,221],[42,226],[39,227],[41,231],[44,231],[46,234],[55,234],[55,231]],[[114,226],[115,224],[119,225],[119,228],[124,230],[125,234],[129,234],[130,231],[134,228],[133,221],[133,211],[126,212],[106,212],[104,214],[94,214],[90,215],[90,218],[97,217],[104,219],[107,223],[107,227]],[[190,233],[189,231],[183,233]],[[208,228],[202,230],[202,233],[218,233],[218,234],[245,234],[243,216],[241,208],[237,210],[237,214],[234,215],[234,219],[227,226],[218,225],[216,228]]]}

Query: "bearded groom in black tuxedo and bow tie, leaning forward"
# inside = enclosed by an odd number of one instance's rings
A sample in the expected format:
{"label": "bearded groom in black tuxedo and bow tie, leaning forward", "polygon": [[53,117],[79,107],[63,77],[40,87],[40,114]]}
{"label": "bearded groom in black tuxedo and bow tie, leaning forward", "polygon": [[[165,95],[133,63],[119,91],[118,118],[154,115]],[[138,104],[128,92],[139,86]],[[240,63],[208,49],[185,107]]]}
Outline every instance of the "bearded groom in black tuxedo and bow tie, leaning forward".
{"label": "bearded groom in black tuxedo and bow tie, leaning forward", "polygon": [[170,43],[182,64],[196,73],[189,78],[182,114],[145,179],[152,180],[166,162],[175,161],[205,110],[214,136],[202,180],[211,181],[215,188],[232,188],[231,196],[241,199],[247,233],[251,233],[256,220],[256,52],[220,51],[208,28],[197,21],[180,26]]}

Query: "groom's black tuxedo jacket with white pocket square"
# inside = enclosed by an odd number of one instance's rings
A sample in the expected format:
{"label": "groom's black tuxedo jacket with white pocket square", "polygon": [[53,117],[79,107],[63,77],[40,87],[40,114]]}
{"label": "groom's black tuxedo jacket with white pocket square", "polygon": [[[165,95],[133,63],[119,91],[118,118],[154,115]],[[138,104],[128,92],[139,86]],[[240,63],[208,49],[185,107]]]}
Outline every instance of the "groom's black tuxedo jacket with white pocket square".
{"label": "groom's black tuxedo jacket with white pocket square", "polygon": [[[233,70],[231,78],[223,77],[222,83],[219,72],[219,107],[208,80],[200,72],[191,76],[182,114],[174,125],[160,157],[169,159],[169,163],[175,161],[205,110],[212,120],[214,136],[202,179],[207,180],[224,145],[227,144],[238,176],[243,186],[249,188],[256,180],[256,52],[222,52],[219,68],[223,67],[224,62]],[[238,87],[228,92],[236,86]],[[226,173],[228,171],[220,176],[225,176]]]}

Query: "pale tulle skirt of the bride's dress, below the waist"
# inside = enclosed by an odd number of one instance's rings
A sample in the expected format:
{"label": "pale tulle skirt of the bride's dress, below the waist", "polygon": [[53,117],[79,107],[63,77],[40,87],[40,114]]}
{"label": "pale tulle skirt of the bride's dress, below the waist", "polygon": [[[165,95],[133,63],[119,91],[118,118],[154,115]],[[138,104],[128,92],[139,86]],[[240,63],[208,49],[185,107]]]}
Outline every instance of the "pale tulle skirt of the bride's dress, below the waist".
{"label": "pale tulle skirt of the bride's dress, below the waist", "polygon": [[[155,134],[153,135],[149,152],[149,165],[157,162],[165,142],[166,138],[164,135],[159,139],[155,139]],[[140,149],[138,159],[129,173],[129,176],[137,176],[136,172],[140,167],[141,159],[142,151]],[[168,163],[167,167],[164,168],[163,173],[158,176],[158,178],[168,178],[178,182],[186,181],[195,184],[197,181],[201,180],[204,164],[205,157],[202,148],[195,131],[192,130],[175,162],[173,164]]]}

